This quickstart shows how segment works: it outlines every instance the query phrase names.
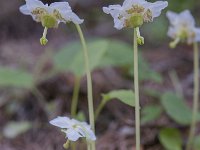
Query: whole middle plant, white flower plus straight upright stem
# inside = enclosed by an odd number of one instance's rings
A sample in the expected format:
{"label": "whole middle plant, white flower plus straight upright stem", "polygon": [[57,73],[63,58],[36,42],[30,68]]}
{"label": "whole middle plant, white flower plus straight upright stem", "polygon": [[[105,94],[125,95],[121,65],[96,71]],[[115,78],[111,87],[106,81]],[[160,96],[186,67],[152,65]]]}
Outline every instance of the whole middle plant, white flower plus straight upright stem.
{"label": "whole middle plant, white flower plus straight upright stem", "polygon": [[138,44],[144,44],[144,38],[140,35],[139,27],[144,22],[152,22],[161,11],[168,6],[167,1],[150,3],[145,0],[125,0],[121,5],[103,7],[106,14],[111,14],[114,19],[114,27],[134,29],[134,90],[135,90],[135,130],[136,150],[140,150],[140,104],[139,104],[139,80],[138,80]]}

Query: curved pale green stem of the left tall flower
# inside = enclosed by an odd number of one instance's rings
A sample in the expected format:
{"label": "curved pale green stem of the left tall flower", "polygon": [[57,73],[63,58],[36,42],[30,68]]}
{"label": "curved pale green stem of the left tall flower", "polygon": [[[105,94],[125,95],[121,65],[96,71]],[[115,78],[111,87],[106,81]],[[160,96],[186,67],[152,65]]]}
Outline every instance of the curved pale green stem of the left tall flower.
{"label": "curved pale green stem of the left tall flower", "polygon": [[[85,38],[83,36],[81,27],[78,24],[75,24],[75,25],[76,25],[76,29],[79,33],[81,44],[83,46],[83,51],[84,51],[85,69],[86,69],[86,76],[87,76],[89,119],[90,119],[90,125],[92,127],[92,130],[95,132],[94,106],[93,106],[93,96],[92,96],[92,78],[91,78],[90,67],[89,67],[88,49],[86,46]],[[95,150],[95,142],[94,141],[91,143],[91,147],[92,147],[92,150]]]}

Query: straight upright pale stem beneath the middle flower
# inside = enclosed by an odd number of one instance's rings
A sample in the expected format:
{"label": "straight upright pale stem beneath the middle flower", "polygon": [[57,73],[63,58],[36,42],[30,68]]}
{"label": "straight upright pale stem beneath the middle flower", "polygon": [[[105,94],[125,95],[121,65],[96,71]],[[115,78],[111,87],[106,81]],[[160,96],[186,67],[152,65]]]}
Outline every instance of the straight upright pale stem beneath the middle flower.
{"label": "straight upright pale stem beneath the middle flower", "polygon": [[138,44],[137,44],[137,31],[135,28],[134,28],[133,44],[134,44],[133,51],[134,51],[136,150],[140,150],[140,102],[139,102],[139,80],[138,80]]}

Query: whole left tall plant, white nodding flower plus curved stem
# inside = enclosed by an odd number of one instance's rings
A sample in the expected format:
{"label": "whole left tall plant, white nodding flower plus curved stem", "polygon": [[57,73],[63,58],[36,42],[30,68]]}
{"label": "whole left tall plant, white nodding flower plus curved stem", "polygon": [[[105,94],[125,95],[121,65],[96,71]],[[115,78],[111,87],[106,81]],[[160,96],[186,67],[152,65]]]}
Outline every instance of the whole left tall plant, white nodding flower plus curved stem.
{"label": "whole left tall plant, white nodding flower plus curved stem", "polygon": [[[48,5],[48,4],[43,4],[39,0],[26,0],[26,4],[20,7],[20,11],[25,15],[31,15],[33,20],[40,22],[44,27],[43,36],[40,39],[41,45],[46,45],[48,42],[46,35],[47,35],[47,30],[49,28],[58,27],[60,22],[63,23],[73,22],[75,24],[81,40],[81,44],[83,46],[85,70],[87,75],[89,120],[91,128],[94,131],[95,123],[94,123],[94,108],[93,108],[93,95],[92,95],[92,80],[90,74],[88,49],[83,32],[79,25],[83,23],[83,20],[72,12],[72,9],[69,6],[68,2],[55,2]],[[95,150],[94,140],[90,142],[88,149]]]}

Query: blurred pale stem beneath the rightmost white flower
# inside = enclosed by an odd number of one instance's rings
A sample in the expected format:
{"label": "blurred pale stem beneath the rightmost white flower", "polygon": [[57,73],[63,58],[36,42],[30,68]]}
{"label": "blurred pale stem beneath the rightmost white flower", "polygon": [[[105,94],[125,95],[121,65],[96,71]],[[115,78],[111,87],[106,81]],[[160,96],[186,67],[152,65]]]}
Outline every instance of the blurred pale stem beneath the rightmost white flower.
{"label": "blurred pale stem beneath the rightmost white flower", "polygon": [[186,150],[191,150],[195,130],[196,130],[196,119],[198,113],[198,105],[199,105],[199,51],[198,44],[194,43],[194,93],[193,93],[193,109],[192,109],[192,122],[190,125],[190,133],[188,138],[188,143],[186,146]]}

